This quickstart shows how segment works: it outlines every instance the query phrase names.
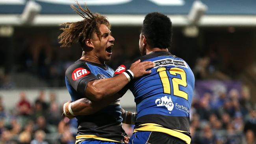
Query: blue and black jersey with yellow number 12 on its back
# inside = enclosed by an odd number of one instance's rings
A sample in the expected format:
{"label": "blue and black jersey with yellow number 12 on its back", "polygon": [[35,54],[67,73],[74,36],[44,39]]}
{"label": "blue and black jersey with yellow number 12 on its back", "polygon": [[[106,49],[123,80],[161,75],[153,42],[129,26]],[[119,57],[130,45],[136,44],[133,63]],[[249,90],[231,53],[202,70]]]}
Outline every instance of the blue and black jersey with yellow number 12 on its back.
{"label": "blue and black jersey with yellow number 12 on its back", "polygon": [[[151,74],[131,81],[137,109],[134,132],[157,131],[190,143],[189,114],[195,77],[187,63],[169,52],[157,51],[135,59],[156,64]],[[121,65],[115,74],[130,68]]]}

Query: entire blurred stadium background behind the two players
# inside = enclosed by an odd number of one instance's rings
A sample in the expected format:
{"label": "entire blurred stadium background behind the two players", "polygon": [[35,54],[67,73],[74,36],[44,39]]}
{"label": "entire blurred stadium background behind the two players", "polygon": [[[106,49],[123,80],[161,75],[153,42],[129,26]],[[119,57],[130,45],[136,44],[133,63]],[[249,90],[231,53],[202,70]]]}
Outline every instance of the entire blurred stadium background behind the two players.
{"label": "entire blurred stadium background behind the two players", "polygon": [[[191,144],[256,144],[255,0],[78,0],[108,17],[116,69],[139,55],[147,13],[173,22],[169,52],[194,72]],[[78,44],[60,48],[59,24],[82,20],[74,0],[0,0],[0,144],[72,144],[76,119],[62,114],[70,100],[65,70]],[[121,105],[136,111],[127,92]],[[128,135],[133,126],[124,125]]]}

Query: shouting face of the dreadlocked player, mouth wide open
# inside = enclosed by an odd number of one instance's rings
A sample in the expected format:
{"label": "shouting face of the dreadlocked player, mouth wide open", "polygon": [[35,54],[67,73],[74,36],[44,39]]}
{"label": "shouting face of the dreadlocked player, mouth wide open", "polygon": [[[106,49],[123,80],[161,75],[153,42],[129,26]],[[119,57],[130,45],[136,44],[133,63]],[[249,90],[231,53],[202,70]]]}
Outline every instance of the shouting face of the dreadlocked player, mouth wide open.
{"label": "shouting face of the dreadlocked player, mouth wide open", "polygon": [[111,36],[109,28],[104,24],[100,25],[100,33],[101,39],[98,38],[96,33],[93,35],[93,51],[100,62],[104,63],[110,60],[112,54],[111,48],[114,46],[115,39]]}

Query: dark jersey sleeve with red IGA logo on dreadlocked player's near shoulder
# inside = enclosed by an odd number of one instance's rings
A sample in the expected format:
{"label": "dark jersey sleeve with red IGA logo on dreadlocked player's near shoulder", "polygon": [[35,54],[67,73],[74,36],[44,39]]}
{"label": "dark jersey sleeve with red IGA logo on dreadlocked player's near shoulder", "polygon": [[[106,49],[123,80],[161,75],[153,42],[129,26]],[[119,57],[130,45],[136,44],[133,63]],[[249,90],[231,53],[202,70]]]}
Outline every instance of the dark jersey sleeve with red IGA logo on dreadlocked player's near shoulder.
{"label": "dark jersey sleeve with red IGA logo on dreadlocked player's near shoulder", "polygon": [[66,77],[69,84],[80,95],[85,96],[85,90],[88,82],[98,79],[87,65],[72,65],[66,71]]}

